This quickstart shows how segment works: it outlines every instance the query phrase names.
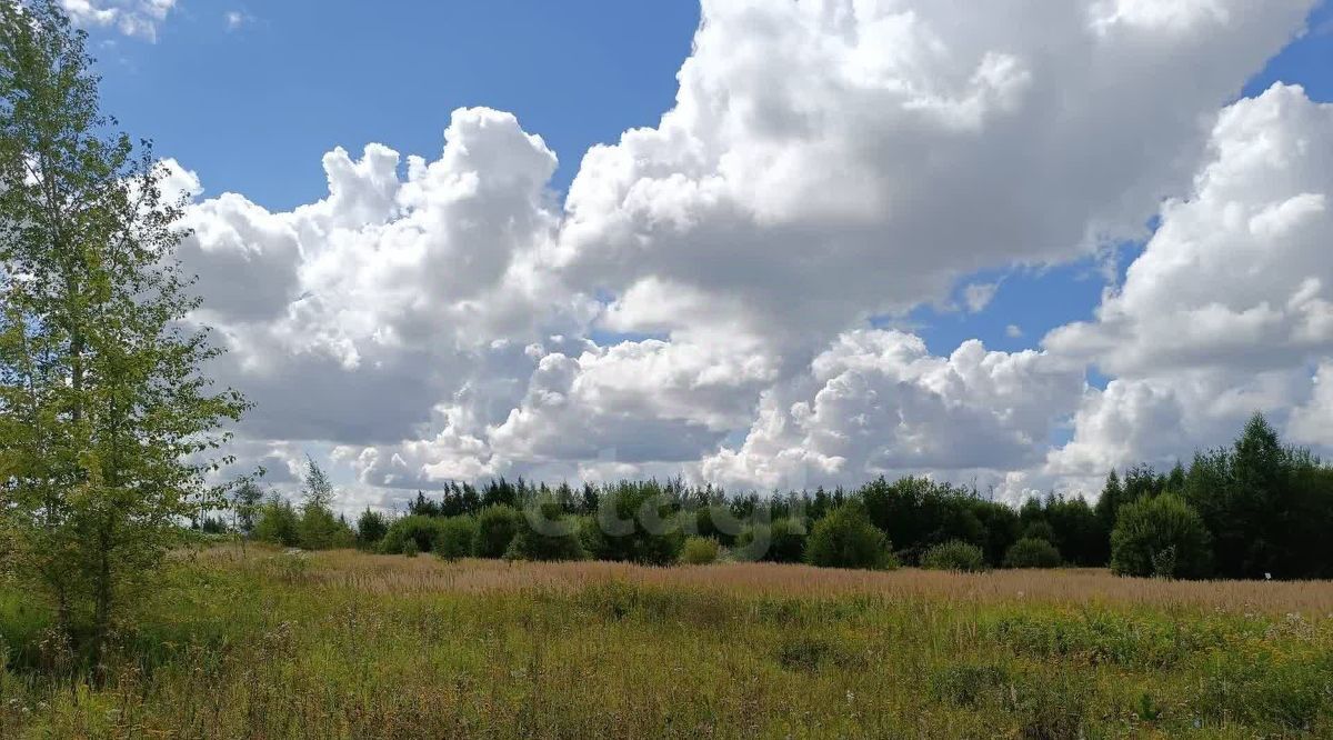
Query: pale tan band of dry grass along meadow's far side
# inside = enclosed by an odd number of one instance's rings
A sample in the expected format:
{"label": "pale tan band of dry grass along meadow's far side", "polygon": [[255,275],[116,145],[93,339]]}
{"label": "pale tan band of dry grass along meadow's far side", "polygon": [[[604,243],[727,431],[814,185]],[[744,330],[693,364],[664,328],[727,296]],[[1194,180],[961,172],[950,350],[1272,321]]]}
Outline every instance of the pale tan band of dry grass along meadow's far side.
{"label": "pale tan band of dry grass along meadow's far side", "polygon": [[[205,559],[239,557],[216,548]],[[251,551],[261,565],[292,556]],[[607,581],[718,589],[740,595],[838,596],[869,593],[976,603],[1077,603],[1196,607],[1237,613],[1300,613],[1333,619],[1333,581],[1164,581],[1124,579],[1105,569],[993,571],[950,573],[905,568],[892,572],[840,571],[770,563],[724,563],[651,568],[625,563],[508,563],[429,556],[401,557],[356,551],[303,553],[303,583],[349,587],[368,593],[489,593],[524,589],[576,591]]]}

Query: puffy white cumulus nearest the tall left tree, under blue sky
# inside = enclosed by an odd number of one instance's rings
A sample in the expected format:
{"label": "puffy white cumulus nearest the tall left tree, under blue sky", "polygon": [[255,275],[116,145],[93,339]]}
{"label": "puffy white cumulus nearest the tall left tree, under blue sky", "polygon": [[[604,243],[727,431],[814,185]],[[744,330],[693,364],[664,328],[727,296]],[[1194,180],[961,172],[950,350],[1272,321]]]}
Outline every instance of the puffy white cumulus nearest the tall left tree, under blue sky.
{"label": "puffy white cumulus nearest the tall left tree, under blue sky", "polygon": [[[455,112],[445,137],[405,179],[385,147],[335,149],[328,197],[291,212],[235,193],[189,209],[181,259],[231,348],[217,372],[257,401],[248,433],[412,439],[488,361],[531,372],[521,347],[563,321],[535,308],[545,279],[525,261],[556,223],[555,155],[488,109]],[[507,352],[507,336],[525,339]]]}

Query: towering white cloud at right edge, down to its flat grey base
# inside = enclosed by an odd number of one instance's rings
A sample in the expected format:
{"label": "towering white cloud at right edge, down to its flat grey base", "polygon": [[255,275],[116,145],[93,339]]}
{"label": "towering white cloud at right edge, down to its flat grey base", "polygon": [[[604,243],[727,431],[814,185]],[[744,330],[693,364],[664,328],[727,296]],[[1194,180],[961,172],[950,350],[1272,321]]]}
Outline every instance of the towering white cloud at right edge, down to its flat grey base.
{"label": "towering white cloud at right edge, down to its flat grey base", "polygon": [[1333,351],[1333,107],[1274,85],[1229,107],[1194,192],[1097,320],[1046,337],[1116,375],[1285,368]]}

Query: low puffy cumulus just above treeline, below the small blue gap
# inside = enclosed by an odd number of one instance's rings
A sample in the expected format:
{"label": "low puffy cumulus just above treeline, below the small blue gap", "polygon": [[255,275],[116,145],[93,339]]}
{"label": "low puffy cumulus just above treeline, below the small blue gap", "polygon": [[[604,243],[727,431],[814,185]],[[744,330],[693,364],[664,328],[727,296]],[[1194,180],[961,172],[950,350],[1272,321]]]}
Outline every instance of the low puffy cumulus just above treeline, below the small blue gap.
{"label": "low puffy cumulus just above treeline, below the small blue gap", "polygon": [[766,391],[744,445],[706,459],[701,472],[764,487],[913,472],[998,477],[1040,463],[1050,409],[1073,408],[1082,391],[1082,368],[1045,353],[989,352],[972,340],[937,357],[913,335],[856,331],[808,375]]}

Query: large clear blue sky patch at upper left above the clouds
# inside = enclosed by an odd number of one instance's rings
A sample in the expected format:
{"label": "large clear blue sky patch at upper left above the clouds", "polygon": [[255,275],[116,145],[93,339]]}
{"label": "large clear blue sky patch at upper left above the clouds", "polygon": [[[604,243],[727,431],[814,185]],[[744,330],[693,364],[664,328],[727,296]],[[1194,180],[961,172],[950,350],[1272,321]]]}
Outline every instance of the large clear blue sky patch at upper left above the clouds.
{"label": "large clear blue sky patch at upper left above the clouds", "polygon": [[[227,13],[245,13],[237,28]],[[209,193],[272,209],[325,192],[320,156],[369,141],[433,157],[449,112],[511,111],[560,156],[670,108],[698,7],[680,0],[181,3],[156,44],[97,32],[105,105],[196,169]]]}

